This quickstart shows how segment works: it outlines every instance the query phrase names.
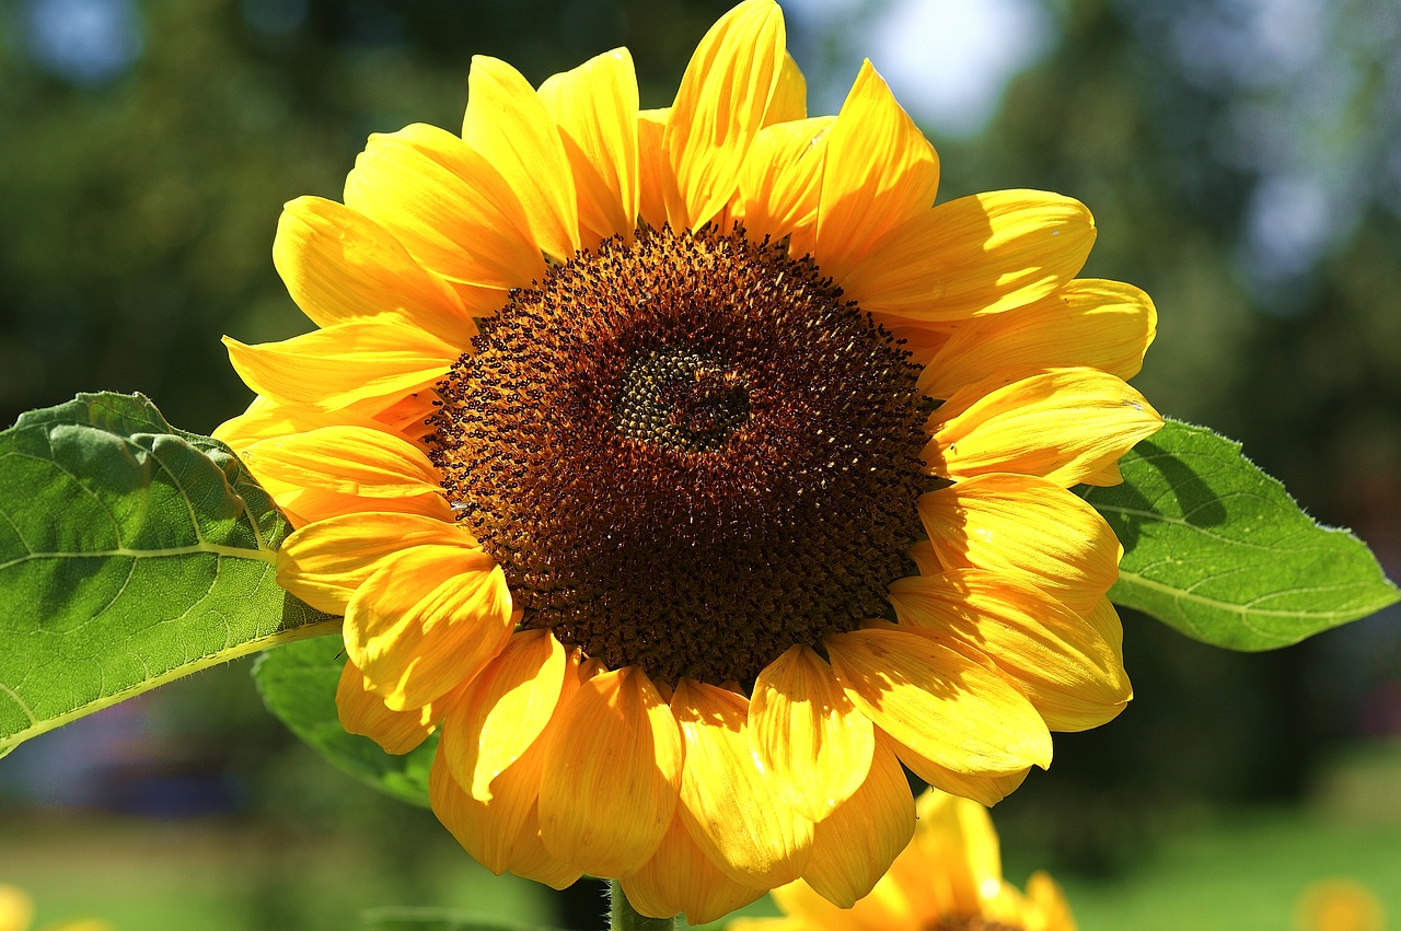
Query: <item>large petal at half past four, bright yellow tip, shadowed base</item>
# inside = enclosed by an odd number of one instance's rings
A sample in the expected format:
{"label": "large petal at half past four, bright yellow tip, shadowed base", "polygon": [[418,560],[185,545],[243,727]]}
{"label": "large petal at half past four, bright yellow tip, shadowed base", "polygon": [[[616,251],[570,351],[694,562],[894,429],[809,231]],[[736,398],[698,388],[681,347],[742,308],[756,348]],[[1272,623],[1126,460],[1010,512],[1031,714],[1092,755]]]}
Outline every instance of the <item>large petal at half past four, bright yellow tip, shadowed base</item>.
{"label": "large petal at half past four, bright yellow tip, shadowed base", "polygon": [[1017,689],[932,638],[881,624],[827,638],[832,671],[883,731],[957,773],[1051,763],[1051,734]]}

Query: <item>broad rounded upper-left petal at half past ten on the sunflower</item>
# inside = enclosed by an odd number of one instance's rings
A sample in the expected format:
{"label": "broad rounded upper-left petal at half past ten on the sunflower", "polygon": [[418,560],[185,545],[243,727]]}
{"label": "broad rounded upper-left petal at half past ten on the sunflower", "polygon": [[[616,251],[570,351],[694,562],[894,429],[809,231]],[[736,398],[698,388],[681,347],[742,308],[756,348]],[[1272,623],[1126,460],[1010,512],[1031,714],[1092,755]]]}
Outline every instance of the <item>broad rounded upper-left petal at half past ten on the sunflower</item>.
{"label": "broad rounded upper-left petal at half past ten on the sunflower", "polygon": [[436,126],[370,136],[345,202],[448,281],[511,288],[545,273],[514,189],[485,155]]}

